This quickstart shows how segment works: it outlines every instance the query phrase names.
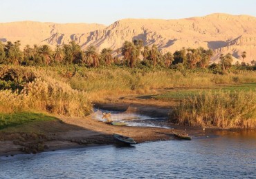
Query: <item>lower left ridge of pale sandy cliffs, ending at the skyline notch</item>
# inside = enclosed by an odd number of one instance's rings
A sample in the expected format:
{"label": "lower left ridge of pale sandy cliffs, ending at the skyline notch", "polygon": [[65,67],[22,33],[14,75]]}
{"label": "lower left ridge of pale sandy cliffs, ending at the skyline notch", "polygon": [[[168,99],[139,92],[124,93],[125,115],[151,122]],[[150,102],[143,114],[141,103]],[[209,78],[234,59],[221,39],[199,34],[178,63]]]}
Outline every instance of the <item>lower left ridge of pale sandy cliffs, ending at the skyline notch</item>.
{"label": "lower left ridge of pale sandy cliffs, ending at the skyline notch", "polygon": [[78,36],[96,29],[104,29],[105,25],[86,23],[40,23],[21,21],[0,23],[0,41],[21,41],[22,46],[48,44],[63,45],[69,41],[78,41]]}

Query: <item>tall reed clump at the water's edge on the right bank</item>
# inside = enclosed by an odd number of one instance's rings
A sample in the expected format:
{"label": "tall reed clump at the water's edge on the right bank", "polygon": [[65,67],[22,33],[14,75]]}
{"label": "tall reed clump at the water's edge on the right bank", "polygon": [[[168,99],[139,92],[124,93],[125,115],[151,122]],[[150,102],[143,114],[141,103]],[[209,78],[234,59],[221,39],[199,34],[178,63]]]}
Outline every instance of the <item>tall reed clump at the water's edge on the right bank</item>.
{"label": "tall reed clump at the water's edge on the right bank", "polygon": [[181,101],[174,110],[181,125],[256,127],[256,91],[208,91]]}

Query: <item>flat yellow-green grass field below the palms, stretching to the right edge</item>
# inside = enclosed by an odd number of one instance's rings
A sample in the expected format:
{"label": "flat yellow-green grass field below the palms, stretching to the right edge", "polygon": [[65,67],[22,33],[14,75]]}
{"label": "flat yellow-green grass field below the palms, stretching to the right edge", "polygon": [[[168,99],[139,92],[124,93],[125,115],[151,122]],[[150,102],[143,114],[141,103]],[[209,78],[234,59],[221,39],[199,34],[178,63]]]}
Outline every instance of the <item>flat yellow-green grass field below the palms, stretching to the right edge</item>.
{"label": "flat yellow-green grass field below the palms, stretching to the right edge", "polygon": [[256,72],[220,75],[173,70],[91,69],[78,71],[66,82],[74,89],[88,92],[93,101],[99,101],[107,96],[147,94],[163,88],[256,82]]}

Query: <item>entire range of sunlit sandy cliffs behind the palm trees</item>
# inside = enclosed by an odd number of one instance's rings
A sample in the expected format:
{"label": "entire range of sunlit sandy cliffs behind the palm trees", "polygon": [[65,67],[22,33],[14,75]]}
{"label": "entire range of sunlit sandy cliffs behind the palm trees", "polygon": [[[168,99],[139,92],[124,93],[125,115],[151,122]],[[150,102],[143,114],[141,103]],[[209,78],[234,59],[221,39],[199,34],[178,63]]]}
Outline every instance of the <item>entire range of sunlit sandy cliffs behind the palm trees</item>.
{"label": "entire range of sunlit sandy cliffs behind the palm trees", "polygon": [[210,14],[177,20],[123,19],[108,27],[84,23],[0,23],[1,41],[21,40],[23,45],[55,46],[76,41],[83,49],[95,45],[100,51],[116,50],[134,39],[143,39],[144,45],[156,44],[163,52],[202,46],[214,50],[216,56],[230,52],[241,59],[241,52],[246,51],[245,61],[250,62],[256,59],[256,18]]}

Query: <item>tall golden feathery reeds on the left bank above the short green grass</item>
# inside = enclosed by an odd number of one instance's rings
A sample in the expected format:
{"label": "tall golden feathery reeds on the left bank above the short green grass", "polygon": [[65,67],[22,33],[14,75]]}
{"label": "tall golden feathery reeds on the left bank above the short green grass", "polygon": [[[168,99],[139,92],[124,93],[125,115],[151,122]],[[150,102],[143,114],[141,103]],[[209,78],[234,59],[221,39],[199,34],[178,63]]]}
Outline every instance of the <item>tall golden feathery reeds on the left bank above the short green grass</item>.
{"label": "tall golden feathery reeds on the left bank above the short green grass", "polygon": [[[35,78],[24,81],[24,72],[30,70]],[[6,71],[1,75],[2,81],[17,83],[10,76],[5,76],[10,71],[14,74],[12,76],[19,78],[20,90],[2,87],[0,112],[39,111],[68,116],[86,116],[91,112],[92,105],[86,92],[72,89],[67,83],[47,76],[42,70],[26,67],[24,72],[18,73],[17,67],[3,67],[1,71]]]}

